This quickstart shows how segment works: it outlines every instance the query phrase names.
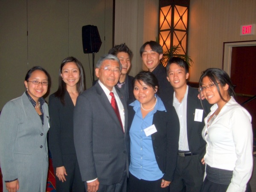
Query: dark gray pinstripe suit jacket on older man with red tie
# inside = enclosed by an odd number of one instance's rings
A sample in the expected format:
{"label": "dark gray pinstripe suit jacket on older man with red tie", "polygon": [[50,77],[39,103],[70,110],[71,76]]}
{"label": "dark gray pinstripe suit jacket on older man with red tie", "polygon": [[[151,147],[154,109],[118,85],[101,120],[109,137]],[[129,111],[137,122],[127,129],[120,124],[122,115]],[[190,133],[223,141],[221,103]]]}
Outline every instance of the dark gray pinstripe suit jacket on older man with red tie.
{"label": "dark gray pinstripe suit jacket on older man with red tie", "polygon": [[83,181],[96,177],[113,185],[128,174],[129,135],[126,94],[116,89],[125,109],[125,133],[105,92],[97,82],[79,95],[74,110],[74,142]]}

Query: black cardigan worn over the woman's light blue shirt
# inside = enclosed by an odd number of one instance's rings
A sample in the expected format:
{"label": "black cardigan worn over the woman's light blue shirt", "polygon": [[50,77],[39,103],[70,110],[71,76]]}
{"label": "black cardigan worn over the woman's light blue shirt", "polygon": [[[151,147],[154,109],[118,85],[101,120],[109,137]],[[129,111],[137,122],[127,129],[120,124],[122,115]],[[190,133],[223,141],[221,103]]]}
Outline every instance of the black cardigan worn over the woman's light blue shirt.
{"label": "black cardigan worn over the woman's light blue shirt", "polygon": [[[172,181],[178,154],[180,123],[172,105],[164,104],[166,111],[157,111],[153,116],[153,124],[157,132],[151,135],[154,154],[163,179]],[[128,128],[131,128],[135,111],[128,106]]]}

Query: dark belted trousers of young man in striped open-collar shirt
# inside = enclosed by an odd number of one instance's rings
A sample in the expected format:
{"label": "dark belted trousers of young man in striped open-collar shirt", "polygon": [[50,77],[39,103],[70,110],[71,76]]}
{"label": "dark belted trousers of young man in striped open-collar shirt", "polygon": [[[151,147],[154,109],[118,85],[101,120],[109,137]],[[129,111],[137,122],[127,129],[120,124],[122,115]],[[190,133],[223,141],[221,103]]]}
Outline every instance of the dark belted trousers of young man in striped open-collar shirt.
{"label": "dark belted trousers of young man in striped open-collar shirt", "polygon": [[177,158],[174,179],[170,184],[170,192],[199,192],[204,181],[205,165],[199,155]]}

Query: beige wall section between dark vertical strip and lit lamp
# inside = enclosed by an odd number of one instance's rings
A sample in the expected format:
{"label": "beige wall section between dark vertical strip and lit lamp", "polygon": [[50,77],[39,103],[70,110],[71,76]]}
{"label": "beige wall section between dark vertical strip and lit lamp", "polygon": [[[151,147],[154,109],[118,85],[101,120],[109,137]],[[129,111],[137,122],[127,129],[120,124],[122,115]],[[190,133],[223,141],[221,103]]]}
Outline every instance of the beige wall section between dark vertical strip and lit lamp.
{"label": "beige wall section between dark vertical strip and lit lamp", "polygon": [[115,44],[125,43],[134,53],[131,76],[145,67],[140,47],[158,36],[158,4],[158,0],[116,0]]}

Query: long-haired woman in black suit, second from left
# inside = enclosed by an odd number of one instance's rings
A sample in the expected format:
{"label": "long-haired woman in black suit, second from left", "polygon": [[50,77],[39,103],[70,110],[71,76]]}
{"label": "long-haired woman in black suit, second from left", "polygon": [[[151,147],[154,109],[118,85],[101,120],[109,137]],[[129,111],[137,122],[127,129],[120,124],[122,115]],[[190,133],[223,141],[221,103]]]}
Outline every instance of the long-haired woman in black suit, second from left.
{"label": "long-haired woman in black suit, second from left", "polygon": [[73,139],[73,111],[84,91],[84,71],[80,61],[65,58],[59,68],[58,90],[49,97],[49,149],[58,192],[84,192]]}

